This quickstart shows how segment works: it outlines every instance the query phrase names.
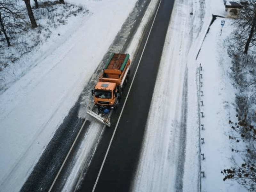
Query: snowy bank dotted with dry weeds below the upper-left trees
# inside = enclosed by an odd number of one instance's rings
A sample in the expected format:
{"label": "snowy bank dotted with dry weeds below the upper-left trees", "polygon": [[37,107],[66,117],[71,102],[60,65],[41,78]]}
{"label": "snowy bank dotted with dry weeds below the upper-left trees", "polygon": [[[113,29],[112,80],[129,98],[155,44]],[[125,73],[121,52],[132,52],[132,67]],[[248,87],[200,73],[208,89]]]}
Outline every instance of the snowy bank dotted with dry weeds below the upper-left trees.
{"label": "snowy bank dotted with dry weeds below the upper-left trees", "polygon": [[[19,7],[17,9],[27,14],[24,2],[20,1],[16,4]],[[42,3],[34,11],[37,28],[28,28],[27,31],[19,30],[17,34],[12,35],[13,37],[10,35],[12,37],[10,39],[12,46],[10,47],[6,46],[2,34],[0,94],[66,42],[71,34],[80,28],[83,20],[88,18],[88,14],[92,13],[89,13],[83,6],[54,4],[54,2],[43,5]],[[29,23],[28,20],[25,21]]]}

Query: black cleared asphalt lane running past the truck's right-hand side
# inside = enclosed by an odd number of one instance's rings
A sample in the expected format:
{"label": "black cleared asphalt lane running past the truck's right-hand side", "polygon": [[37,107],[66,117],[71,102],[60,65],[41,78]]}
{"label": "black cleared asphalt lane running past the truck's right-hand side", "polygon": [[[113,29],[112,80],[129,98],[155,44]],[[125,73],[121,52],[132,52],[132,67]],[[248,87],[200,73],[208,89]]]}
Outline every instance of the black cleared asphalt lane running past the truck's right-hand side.
{"label": "black cleared asphalt lane running past the truck's right-hand side", "polygon": [[[129,191],[132,176],[139,160],[148,110],[173,4],[174,0],[161,1],[99,178],[97,180],[115,127],[105,131],[79,191],[92,191],[96,180],[95,191]],[[137,53],[133,63],[139,62],[140,54],[142,54],[142,50]],[[113,113],[111,124],[116,124],[120,111],[119,109]]]}

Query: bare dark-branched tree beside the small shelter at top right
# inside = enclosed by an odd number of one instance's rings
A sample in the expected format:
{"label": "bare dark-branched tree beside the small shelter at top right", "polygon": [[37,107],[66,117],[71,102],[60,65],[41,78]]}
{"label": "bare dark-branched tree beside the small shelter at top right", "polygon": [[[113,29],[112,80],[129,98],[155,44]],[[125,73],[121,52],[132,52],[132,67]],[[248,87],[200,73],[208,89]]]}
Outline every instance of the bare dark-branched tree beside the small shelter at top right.
{"label": "bare dark-branched tree beside the small shelter at top right", "polygon": [[234,21],[234,35],[247,54],[249,48],[256,45],[256,1],[239,0],[239,3],[243,5],[243,9]]}

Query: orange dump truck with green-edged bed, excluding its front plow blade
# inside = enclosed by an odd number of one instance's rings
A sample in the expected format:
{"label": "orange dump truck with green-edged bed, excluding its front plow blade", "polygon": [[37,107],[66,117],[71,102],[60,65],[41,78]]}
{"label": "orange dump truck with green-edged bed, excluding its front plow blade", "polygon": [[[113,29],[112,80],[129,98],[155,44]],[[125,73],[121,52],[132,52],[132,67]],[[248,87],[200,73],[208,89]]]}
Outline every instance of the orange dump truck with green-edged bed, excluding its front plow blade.
{"label": "orange dump truck with green-edged bed, excluding its front plow blade", "polygon": [[129,54],[112,53],[100,75],[92,96],[95,107],[100,110],[115,109],[130,75]]}

